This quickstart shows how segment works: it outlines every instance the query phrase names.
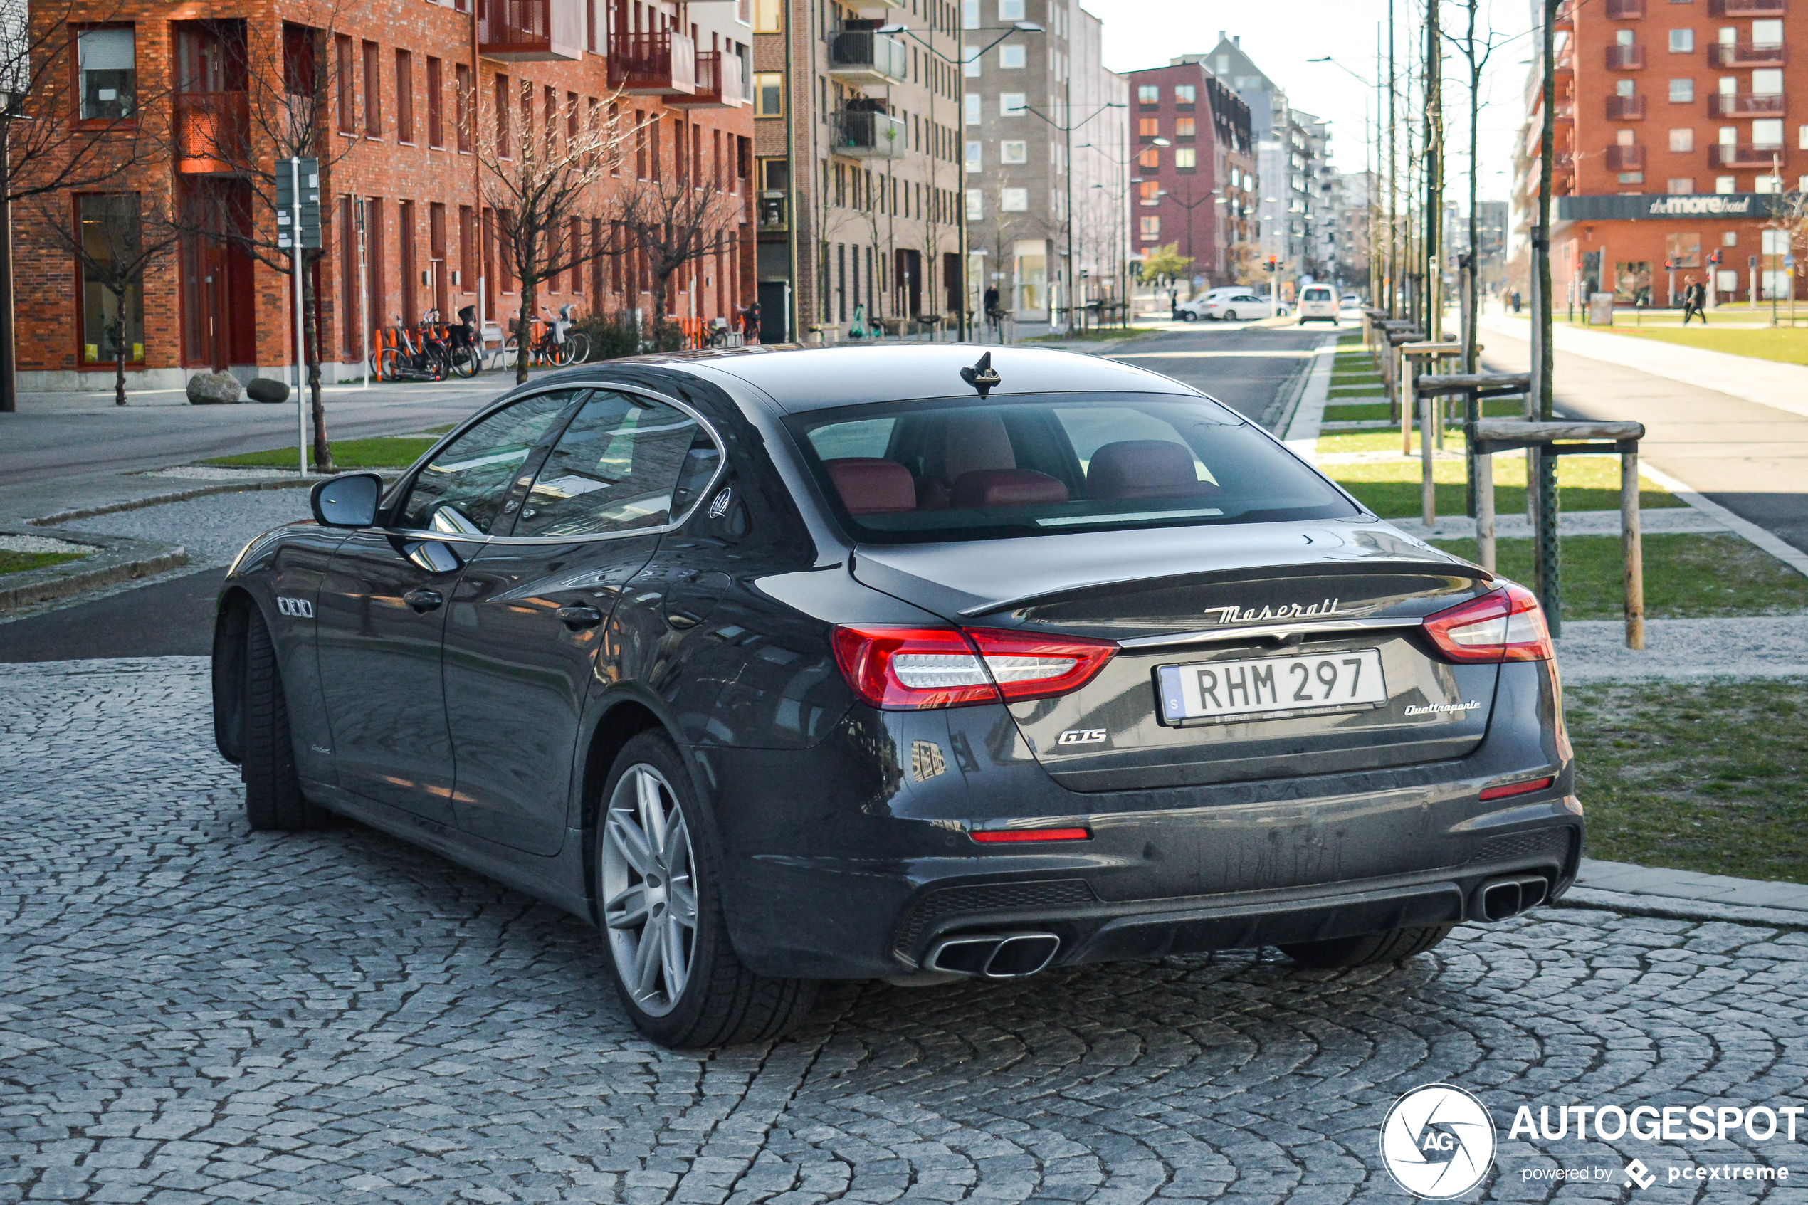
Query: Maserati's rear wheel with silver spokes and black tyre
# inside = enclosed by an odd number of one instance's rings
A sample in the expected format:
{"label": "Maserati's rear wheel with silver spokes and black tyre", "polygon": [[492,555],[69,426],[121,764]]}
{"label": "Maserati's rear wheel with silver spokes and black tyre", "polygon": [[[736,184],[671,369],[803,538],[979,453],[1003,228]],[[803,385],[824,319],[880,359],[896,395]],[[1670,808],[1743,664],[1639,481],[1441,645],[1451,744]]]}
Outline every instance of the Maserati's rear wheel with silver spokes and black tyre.
{"label": "Maserati's rear wheel with silver spokes and black tyre", "polygon": [[664,1046],[730,1046],[783,1035],[810,1014],[815,983],[741,965],[723,916],[720,864],[678,750],[631,739],[597,815],[597,900],[617,994]]}

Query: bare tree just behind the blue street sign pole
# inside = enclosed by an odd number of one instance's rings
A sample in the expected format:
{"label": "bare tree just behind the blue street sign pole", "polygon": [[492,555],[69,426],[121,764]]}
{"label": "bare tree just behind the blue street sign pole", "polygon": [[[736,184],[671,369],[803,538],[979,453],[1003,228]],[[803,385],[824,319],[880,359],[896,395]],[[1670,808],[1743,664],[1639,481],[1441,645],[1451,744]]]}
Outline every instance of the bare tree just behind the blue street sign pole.
{"label": "bare tree just behind the blue street sign pole", "polygon": [[[188,190],[174,210],[174,226],[192,238],[206,238],[237,248],[275,273],[291,275],[293,251],[287,240],[287,211],[277,206],[278,175],[289,172],[287,159],[318,159],[322,181],[333,164],[353,154],[358,139],[327,139],[331,98],[340,92],[342,65],[329,51],[334,45],[336,5],[300,0],[287,9],[275,36],[251,40],[244,22],[217,22],[221,38],[221,81],[201,81],[197,108],[172,123],[170,150],[177,159],[202,159],[230,168],[250,190],[250,211],[228,193],[212,188]],[[197,83],[197,81],[188,81]],[[233,99],[242,85],[244,112]],[[183,96],[177,83],[177,96]],[[181,101],[179,101],[181,103]],[[322,188],[322,191],[325,191]],[[338,231],[347,238],[351,231]],[[315,472],[333,472],[333,444],[327,441],[325,406],[320,399],[320,331],[315,323],[315,266],[324,248],[300,249],[302,255],[302,347],[307,396],[315,428]]]}

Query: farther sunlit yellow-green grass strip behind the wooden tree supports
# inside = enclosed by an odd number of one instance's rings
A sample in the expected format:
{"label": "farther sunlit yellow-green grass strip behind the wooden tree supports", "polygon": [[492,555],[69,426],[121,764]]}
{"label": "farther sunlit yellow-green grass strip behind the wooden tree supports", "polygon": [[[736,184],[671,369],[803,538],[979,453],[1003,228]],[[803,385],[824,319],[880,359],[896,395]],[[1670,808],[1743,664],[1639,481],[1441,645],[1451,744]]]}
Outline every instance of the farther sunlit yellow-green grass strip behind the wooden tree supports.
{"label": "farther sunlit yellow-green grass strip behind the wooden tree supports", "polygon": [[[1351,432],[1323,435],[1318,452],[1356,452],[1361,446],[1399,450],[1399,432]],[[1461,439],[1445,443],[1446,450],[1461,450]],[[1363,506],[1383,518],[1412,518],[1421,513],[1419,461],[1398,459],[1374,464],[1322,464],[1332,481],[1354,493]],[[1432,482],[1437,488],[1437,513],[1461,515],[1466,482],[1463,461],[1434,461]],[[1620,509],[1620,461],[1616,457],[1571,457],[1557,462],[1558,504],[1566,511]],[[1683,506],[1672,493],[1651,481],[1642,482],[1638,504],[1643,509]],[[1497,515],[1526,513],[1526,461],[1522,457],[1495,457],[1493,508]]]}

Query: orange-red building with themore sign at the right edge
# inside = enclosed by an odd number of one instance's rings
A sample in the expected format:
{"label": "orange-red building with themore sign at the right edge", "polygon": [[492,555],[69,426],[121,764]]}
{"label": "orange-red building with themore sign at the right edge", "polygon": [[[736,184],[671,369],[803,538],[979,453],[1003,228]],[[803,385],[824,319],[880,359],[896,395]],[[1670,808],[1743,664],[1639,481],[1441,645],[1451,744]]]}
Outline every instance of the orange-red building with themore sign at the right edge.
{"label": "orange-red building with themore sign at the right edge", "polygon": [[[1786,103],[1808,96],[1808,60],[1790,56],[1808,45],[1808,13],[1784,0],[1571,2],[1557,40],[1555,304],[1606,291],[1665,305],[1690,275],[1721,300],[1799,289],[1765,228],[1779,193],[1808,190],[1808,125]],[[1521,226],[1539,191],[1537,72],[1526,101]]]}

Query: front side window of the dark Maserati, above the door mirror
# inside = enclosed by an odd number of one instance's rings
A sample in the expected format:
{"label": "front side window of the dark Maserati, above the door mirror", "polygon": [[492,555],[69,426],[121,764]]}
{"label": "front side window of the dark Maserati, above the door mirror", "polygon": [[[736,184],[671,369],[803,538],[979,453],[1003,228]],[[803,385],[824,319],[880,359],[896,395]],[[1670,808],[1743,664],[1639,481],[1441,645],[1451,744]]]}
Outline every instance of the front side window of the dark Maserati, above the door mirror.
{"label": "front side window of the dark Maserati, above the door mirror", "polygon": [[533,444],[546,437],[577,394],[560,388],[523,397],[448,443],[414,477],[396,526],[488,535]]}

